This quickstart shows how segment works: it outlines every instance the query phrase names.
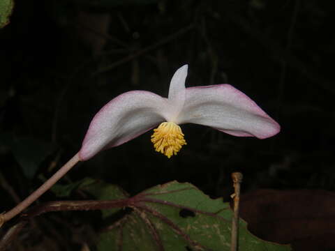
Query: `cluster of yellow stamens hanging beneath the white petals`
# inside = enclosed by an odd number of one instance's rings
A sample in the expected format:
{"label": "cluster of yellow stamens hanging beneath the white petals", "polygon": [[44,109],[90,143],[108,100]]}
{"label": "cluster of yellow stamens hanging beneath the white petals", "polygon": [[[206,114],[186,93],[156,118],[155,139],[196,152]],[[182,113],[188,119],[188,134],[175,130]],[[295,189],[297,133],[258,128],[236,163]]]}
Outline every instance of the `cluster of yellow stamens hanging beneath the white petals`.
{"label": "cluster of yellow stamens hanging beneath the white petals", "polygon": [[181,147],[186,144],[180,126],[173,122],[163,122],[154,129],[151,142],[156,151],[165,154],[168,158],[177,155]]}

